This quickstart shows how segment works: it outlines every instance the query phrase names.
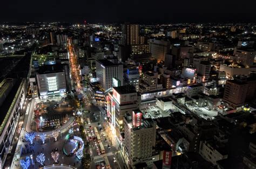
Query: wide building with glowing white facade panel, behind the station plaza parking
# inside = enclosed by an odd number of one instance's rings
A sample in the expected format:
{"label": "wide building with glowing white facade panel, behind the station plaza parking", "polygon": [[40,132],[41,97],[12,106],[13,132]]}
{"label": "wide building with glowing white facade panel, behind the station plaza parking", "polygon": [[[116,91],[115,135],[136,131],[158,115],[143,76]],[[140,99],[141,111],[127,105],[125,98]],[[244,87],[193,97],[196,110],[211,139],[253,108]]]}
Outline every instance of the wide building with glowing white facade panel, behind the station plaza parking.
{"label": "wide building with glowing white facade panel, behind the station plaza parking", "polygon": [[71,90],[69,66],[48,64],[39,67],[36,74],[38,93],[41,98],[64,95]]}

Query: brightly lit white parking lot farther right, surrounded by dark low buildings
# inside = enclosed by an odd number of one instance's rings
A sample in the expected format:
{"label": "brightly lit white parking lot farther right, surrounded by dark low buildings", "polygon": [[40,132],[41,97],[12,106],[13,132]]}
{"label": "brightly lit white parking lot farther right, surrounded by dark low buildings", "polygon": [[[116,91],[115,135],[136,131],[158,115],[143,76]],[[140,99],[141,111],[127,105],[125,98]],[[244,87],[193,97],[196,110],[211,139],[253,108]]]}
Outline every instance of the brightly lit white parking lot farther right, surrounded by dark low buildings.
{"label": "brightly lit white parking lot farther right, surrounded by dark low buildings", "polygon": [[196,113],[199,117],[204,119],[214,119],[218,115],[217,110],[211,110],[208,107],[198,107],[196,104],[185,104],[188,109]]}

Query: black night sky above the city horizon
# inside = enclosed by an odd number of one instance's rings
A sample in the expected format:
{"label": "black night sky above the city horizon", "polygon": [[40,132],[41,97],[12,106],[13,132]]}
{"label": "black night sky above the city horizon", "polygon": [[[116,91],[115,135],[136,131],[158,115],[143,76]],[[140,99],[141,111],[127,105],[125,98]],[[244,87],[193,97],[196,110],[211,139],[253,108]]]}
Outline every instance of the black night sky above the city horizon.
{"label": "black night sky above the city horizon", "polygon": [[256,22],[255,0],[2,0],[0,22]]}

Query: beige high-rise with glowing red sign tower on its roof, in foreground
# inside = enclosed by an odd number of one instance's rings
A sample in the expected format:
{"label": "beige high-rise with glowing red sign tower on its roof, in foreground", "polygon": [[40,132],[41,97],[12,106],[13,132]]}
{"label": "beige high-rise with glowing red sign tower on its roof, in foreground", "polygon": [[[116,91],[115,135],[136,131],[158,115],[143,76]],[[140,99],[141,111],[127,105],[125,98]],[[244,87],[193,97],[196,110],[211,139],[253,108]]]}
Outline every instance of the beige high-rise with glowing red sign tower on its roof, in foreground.
{"label": "beige high-rise with glowing red sign tower on its roof, in foreground", "polygon": [[124,154],[127,154],[131,168],[136,164],[152,165],[154,147],[156,146],[156,122],[142,119],[140,110],[133,110],[132,115],[124,117]]}

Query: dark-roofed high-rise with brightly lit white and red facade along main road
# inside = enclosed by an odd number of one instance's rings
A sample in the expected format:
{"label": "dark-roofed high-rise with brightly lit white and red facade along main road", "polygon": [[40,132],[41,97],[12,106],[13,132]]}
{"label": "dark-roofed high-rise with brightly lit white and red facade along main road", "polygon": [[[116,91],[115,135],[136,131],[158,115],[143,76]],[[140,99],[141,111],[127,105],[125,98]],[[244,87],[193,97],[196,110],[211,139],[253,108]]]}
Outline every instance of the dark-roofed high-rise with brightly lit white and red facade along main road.
{"label": "dark-roofed high-rise with brightly lit white and red facade along main road", "polygon": [[107,117],[120,138],[120,133],[124,132],[123,117],[126,113],[132,114],[132,110],[139,108],[141,96],[132,85],[119,86],[113,87],[113,91],[109,93],[106,101]]}

